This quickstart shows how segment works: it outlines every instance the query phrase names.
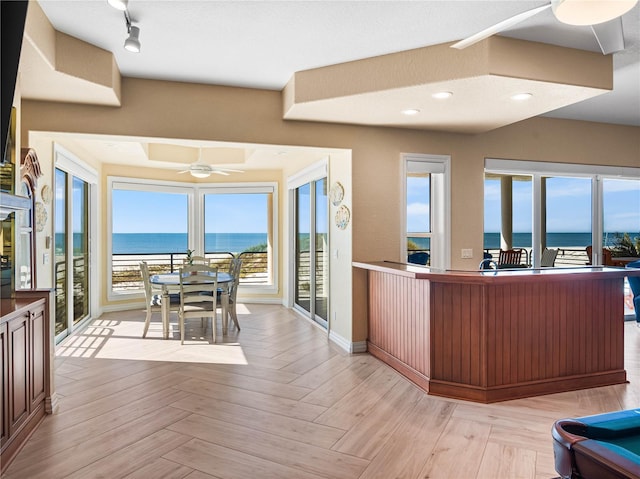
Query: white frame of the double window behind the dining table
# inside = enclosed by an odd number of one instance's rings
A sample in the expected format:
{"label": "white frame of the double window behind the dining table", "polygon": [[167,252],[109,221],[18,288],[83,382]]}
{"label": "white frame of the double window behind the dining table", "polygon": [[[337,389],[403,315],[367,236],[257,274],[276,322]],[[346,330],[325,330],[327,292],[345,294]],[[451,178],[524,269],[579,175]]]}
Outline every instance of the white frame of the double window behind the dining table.
{"label": "white frame of the double window behind the dining table", "polygon": [[[127,178],[118,176],[107,177],[107,244],[106,256],[113,256],[113,212],[112,212],[112,192],[113,189],[129,191],[149,191],[165,193],[182,193],[188,195],[187,208],[189,218],[187,221],[188,248],[196,251],[203,251],[204,238],[202,226],[204,224],[204,211],[201,208],[201,201],[207,193],[272,193],[273,195],[273,218],[272,218],[272,242],[273,261],[271,284],[268,285],[242,285],[242,289],[250,291],[251,294],[272,294],[278,291],[278,184],[276,182],[251,182],[251,183],[182,183],[177,181],[147,180],[143,178]],[[111,270],[112,261],[107,260],[107,299],[109,301],[124,301],[143,297],[142,290],[114,292],[112,284],[113,272]]]}

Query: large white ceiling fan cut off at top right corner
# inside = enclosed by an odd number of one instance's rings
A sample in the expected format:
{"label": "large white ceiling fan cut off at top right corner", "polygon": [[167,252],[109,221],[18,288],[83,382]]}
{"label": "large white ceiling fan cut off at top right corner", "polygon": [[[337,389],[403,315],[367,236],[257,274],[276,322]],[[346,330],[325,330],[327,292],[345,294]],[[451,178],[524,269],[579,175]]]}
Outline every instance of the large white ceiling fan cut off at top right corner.
{"label": "large white ceiling fan cut off at top right corner", "polygon": [[466,48],[551,8],[556,19],[562,23],[591,26],[603,55],[607,55],[624,50],[620,17],[631,10],[636,3],[638,0],[551,0],[546,5],[526,10],[496,23],[451,47]]}

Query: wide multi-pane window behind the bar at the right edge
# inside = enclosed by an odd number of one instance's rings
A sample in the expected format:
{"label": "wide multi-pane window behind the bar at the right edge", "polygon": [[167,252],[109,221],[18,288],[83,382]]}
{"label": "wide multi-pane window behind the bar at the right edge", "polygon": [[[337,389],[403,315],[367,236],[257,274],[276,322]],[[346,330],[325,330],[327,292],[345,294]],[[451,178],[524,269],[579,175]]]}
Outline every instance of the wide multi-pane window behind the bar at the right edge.
{"label": "wide multi-pane window behind the bar at the right edge", "polygon": [[[526,194],[517,187],[525,178]],[[505,186],[505,179],[512,186]],[[594,263],[602,264],[604,255],[597,252],[610,247],[616,235],[640,237],[639,199],[640,168],[487,159],[485,248],[504,248],[496,231],[504,239],[513,228],[512,245],[526,248],[534,267],[544,248],[558,250],[555,266],[586,265],[587,247]],[[530,241],[518,238],[520,228],[528,230]]]}

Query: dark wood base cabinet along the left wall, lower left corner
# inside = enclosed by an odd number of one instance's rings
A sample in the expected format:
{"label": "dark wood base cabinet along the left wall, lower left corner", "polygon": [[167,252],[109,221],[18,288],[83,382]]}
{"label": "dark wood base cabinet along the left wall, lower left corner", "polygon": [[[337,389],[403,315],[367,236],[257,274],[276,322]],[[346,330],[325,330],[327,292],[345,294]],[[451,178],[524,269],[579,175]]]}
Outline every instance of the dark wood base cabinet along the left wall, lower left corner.
{"label": "dark wood base cabinet along the left wall, lower left corner", "polygon": [[45,298],[2,301],[2,472],[42,420],[46,401],[50,400],[48,304]]}

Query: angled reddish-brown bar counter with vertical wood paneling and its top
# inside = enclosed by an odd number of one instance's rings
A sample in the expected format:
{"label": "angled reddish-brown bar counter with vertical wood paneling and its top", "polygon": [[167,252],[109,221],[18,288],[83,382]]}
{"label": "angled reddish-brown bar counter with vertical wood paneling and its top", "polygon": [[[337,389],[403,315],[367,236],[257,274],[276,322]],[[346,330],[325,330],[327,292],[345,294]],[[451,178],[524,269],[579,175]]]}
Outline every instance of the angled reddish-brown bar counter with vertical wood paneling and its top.
{"label": "angled reddish-brown bar counter with vertical wood paneling and its top", "polygon": [[430,394],[495,402],[626,382],[610,267],[368,270],[368,350]]}

